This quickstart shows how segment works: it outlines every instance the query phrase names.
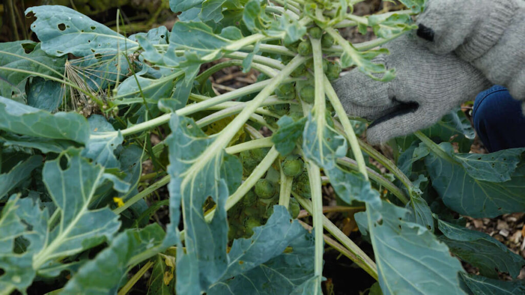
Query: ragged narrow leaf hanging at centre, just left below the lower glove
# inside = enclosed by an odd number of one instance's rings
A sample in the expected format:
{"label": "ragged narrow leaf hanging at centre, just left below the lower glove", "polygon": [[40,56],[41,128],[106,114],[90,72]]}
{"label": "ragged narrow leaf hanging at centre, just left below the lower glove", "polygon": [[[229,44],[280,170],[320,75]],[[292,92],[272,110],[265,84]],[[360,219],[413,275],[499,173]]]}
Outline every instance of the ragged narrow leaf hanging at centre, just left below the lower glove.
{"label": "ragged narrow leaf hanging at centre, just left below the lower glove", "polygon": [[320,116],[308,116],[303,131],[304,155],[323,168],[338,196],[346,203],[353,201],[380,204],[379,193],[372,189],[362,174],[345,171],[336,160],[346,155],[347,144],[342,135]]}

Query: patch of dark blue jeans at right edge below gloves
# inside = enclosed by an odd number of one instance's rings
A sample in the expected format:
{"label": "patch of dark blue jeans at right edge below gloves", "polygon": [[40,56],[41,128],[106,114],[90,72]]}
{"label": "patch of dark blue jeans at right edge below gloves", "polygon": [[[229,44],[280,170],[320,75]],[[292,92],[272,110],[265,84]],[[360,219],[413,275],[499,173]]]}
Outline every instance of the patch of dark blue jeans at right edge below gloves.
{"label": "patch of dark blue jeans at right edge below gloves", "polygon": [[505,87],[493,86],[478,94],[472,111],[474,129],[489,152],[525,147],[525,116],[521,101]]}

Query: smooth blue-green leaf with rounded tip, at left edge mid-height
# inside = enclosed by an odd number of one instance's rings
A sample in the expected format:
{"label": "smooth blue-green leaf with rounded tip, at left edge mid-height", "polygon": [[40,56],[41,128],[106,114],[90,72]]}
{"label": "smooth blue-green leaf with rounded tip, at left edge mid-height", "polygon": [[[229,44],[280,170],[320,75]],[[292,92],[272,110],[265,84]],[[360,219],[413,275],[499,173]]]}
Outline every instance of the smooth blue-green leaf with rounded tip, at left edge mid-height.
{"label": "smooth blue-green leaf with rounded tip, at left edge mid-height", "polygon": [[0,114],[0,130],[79,143],[86,143],[89,139],[88,122],[78,113],[51,114],[0,97]]}

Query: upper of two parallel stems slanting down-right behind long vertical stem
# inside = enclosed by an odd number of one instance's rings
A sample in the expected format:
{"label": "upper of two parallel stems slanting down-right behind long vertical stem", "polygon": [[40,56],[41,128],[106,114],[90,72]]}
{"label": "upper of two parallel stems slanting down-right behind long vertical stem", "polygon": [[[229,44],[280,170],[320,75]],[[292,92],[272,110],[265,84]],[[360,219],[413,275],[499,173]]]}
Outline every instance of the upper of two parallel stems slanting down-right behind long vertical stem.
{"label": "upper of two parallel stems slanting down-right behind long vertical stem", "polygon": [[[312,215],[312,203],[301,196],[299,196],[296,193],[293,193],[293,197],[297,199],[297,201],[301,204],[301,206],[307,210],[307,212]],[[358,245],[355,245],[355,243],[346,236],[336,225],[334,225],[330,219],[326,218],[324,215],[322,215],[322,223],[323,227],[330,233],[332,236],[335,237],[346,249],[348,249],[352,254],[353,257],[349,257],[353,262],[355,262],[356,265],[361,267],[364,271],[369,273],[370,276],[372,276],[374,279],[377,280],[377,268],[375,266],[374,261],[366,255],[361,248],[359,248]]]}

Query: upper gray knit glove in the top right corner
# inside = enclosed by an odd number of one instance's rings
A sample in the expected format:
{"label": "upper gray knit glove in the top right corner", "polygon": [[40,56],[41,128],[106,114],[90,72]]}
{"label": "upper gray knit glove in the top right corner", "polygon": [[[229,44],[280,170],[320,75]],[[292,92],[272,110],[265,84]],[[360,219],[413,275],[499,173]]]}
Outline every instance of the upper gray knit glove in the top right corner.
{"label": "upper gray knit glove in the top right corner", "polygon": [[428,0],[417,23],[430,51],[454,51],[513,98],[525,99],[524,0]]}

